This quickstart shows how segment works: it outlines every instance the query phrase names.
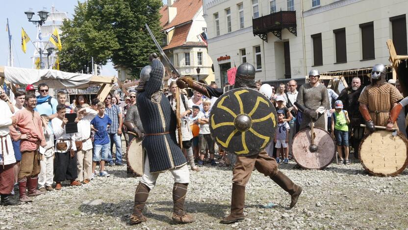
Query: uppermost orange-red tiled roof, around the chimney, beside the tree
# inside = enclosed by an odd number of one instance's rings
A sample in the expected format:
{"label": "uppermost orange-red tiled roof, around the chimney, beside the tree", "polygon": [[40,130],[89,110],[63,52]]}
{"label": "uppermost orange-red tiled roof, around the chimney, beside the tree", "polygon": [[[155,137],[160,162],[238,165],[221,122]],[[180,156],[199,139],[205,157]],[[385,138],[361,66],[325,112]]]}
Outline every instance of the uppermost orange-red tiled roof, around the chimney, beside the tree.
{"label": "uppermost orange-red tiled roof, around the chimney, beside the tree", "polygon": [[162,15],[160,19],[160,26],[162,26],[163,29],[169,29],[182,23],[191,21],[202,6],[202,0],[176,0],[171,7],[177,8],[177,15],[169,24],[169,14],[167,10],[168,6],[164,5],[160,8],[160,14]]}

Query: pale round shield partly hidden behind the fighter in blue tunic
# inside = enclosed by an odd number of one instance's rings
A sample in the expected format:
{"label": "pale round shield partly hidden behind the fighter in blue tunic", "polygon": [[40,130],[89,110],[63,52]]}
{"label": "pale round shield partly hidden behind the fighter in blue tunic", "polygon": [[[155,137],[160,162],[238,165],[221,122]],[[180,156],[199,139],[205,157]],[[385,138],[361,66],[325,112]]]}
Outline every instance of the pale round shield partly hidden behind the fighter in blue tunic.
{"label": "pale round shield partly hidden behind the fighter in blue tunic", "polygon": [[133,138],[133,140],[130,141],[126,152],[126,160],[133,173],[136,173],[137,176],[143,175],[144,159],[142,139]]}

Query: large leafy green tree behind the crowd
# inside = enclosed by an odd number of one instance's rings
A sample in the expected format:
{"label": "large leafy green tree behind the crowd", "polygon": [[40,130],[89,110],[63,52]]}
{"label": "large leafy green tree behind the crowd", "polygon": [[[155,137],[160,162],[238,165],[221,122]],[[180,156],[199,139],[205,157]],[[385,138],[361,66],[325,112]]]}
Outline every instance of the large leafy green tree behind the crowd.
{"label": "large leafy green tree behind the crowd", "polygon": [[145,24],[158,41],[161,0],[88,0],[78,2],[74,18],[61,28],[60,69],[86,72],[94,63],[125,66],[134,77],[149,64],[149,54],[157,52]]}

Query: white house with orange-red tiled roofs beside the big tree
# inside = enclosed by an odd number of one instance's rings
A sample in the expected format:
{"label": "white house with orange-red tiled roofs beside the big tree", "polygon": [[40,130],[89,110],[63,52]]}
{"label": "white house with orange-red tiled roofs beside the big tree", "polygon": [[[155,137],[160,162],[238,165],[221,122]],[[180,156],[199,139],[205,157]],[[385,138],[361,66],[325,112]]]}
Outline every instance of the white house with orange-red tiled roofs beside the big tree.
{"label": "white house with orange-red tiled roofs beside the big tree", "polygon": [[[207,29],[202,1],[169,0],[168,3],[160,9],[160,25],[165,33],[163,51],[181,76],[211,83],[214,81],[212,60],[207,53],[206,40],[200,36],[203,32],[205,35]],[[166,69],[170,70],[168,66]]]}

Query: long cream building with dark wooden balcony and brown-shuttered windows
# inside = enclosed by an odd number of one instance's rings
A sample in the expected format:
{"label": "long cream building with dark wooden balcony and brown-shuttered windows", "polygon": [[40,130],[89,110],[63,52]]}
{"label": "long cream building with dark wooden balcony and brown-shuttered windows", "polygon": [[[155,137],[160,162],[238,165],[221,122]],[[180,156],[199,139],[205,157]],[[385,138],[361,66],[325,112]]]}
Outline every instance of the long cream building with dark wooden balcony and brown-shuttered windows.
{"label": "long cream building with dark wooden balcony and brown-shuttered windows", "polygon": [[388,64],[389,38],[398,54],[407,54],[406,0],[203,4],[208,53],[218,84],[226,83],[226,70],[245,61],[255,66],[255,78],[263,81],[304,77],[312,68],[326,72]]}

